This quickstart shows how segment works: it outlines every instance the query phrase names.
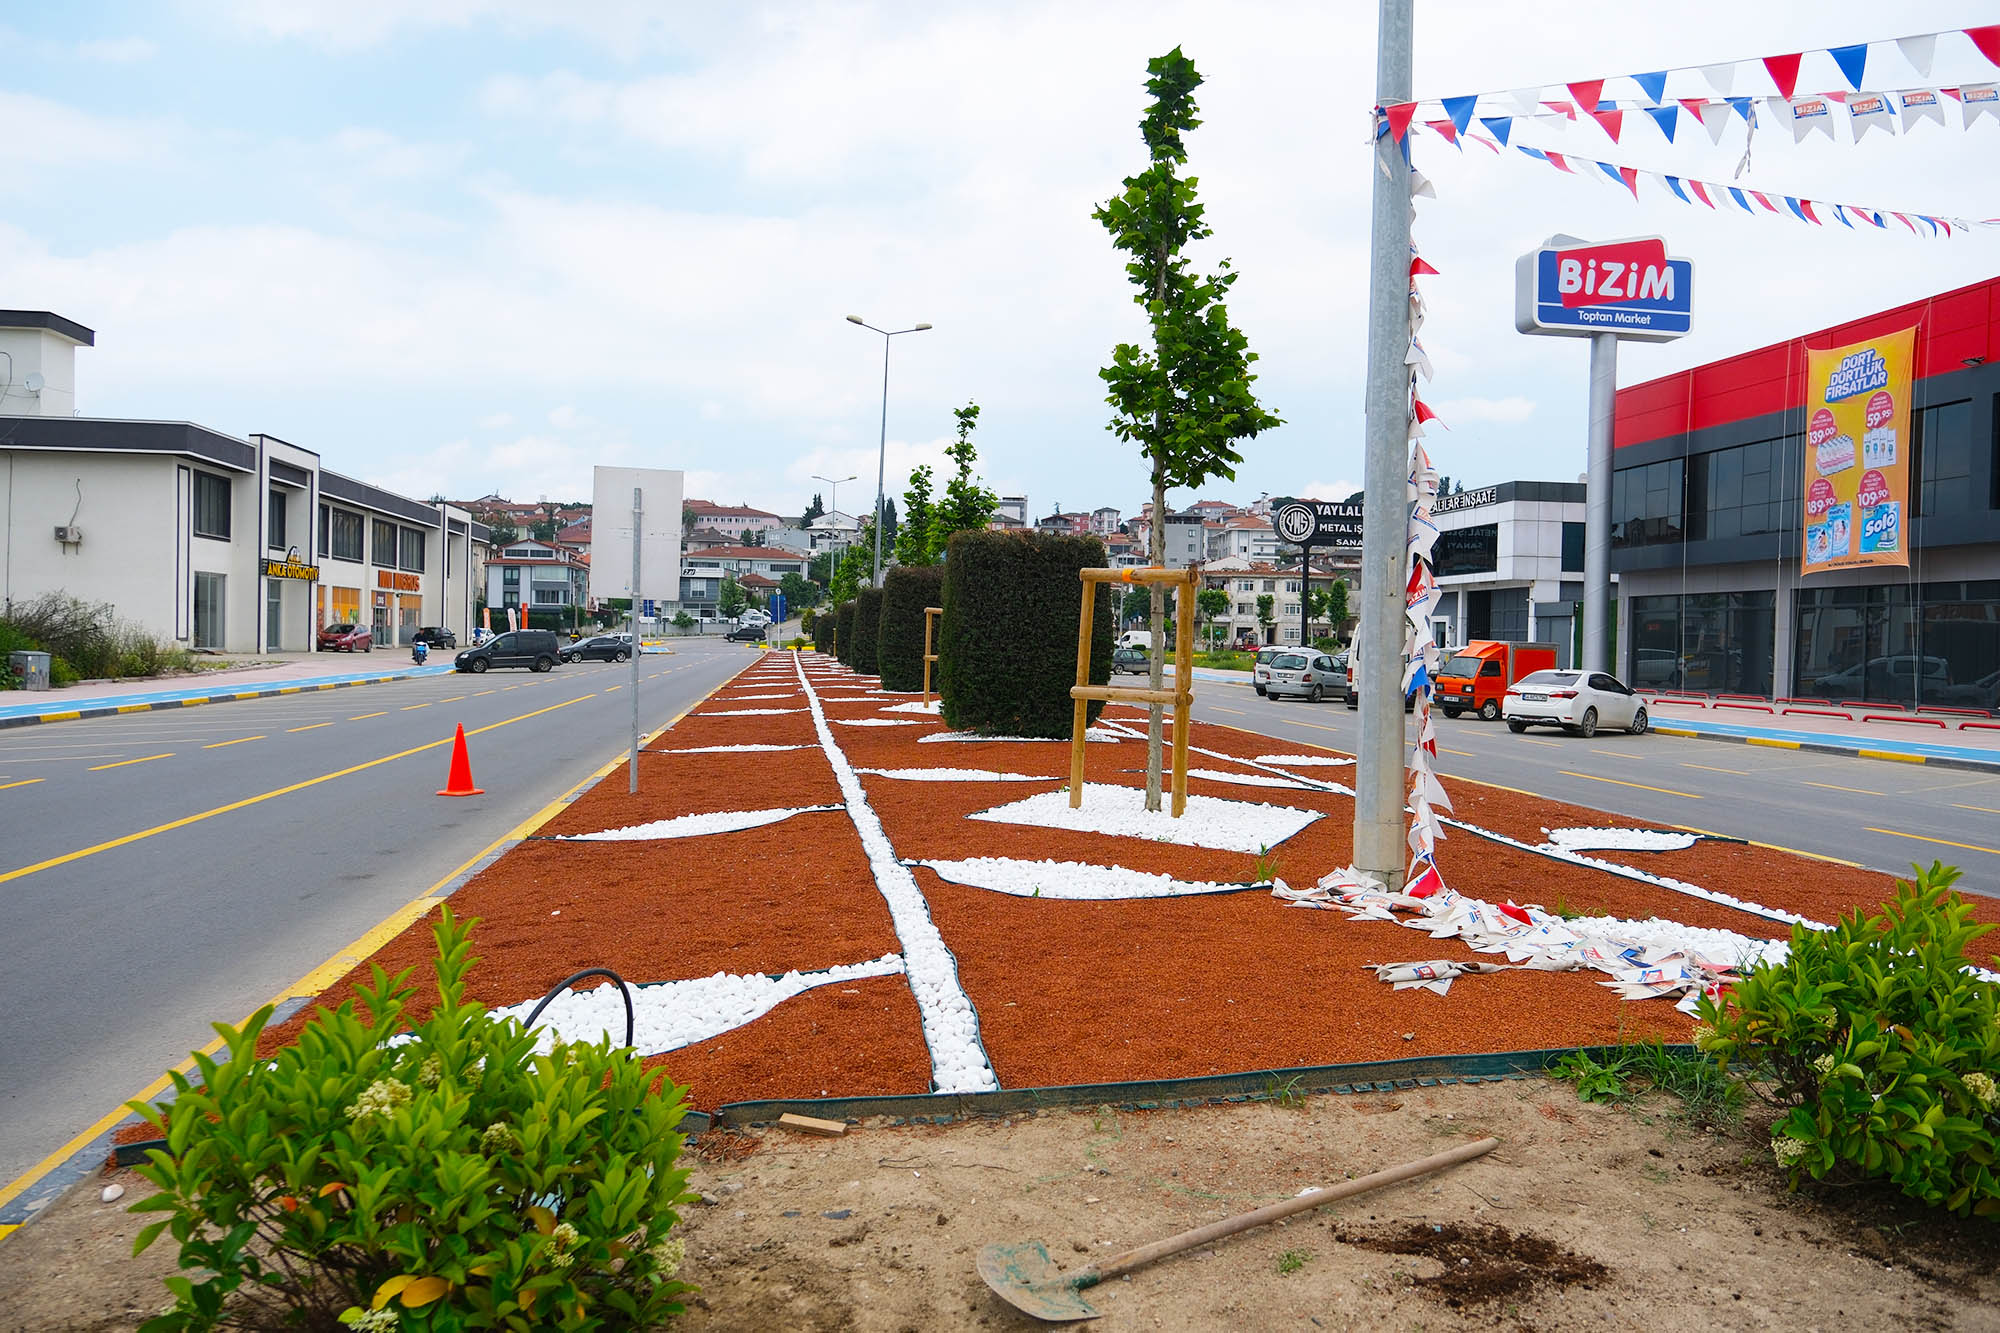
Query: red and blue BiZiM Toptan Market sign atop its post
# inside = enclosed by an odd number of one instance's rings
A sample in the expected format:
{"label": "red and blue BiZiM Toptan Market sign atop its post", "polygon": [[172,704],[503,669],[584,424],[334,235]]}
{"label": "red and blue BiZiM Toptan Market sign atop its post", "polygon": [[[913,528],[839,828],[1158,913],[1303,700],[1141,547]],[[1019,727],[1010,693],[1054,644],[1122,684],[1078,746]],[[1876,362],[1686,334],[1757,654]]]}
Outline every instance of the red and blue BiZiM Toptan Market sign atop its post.
{"label": "red and blue BiZiM Toptan Market sign atop its post", "polygon": [[1692,326],[1694,264],[1658,236],[1556,244],[1514,262],[1514,328],[1666,342]]}

